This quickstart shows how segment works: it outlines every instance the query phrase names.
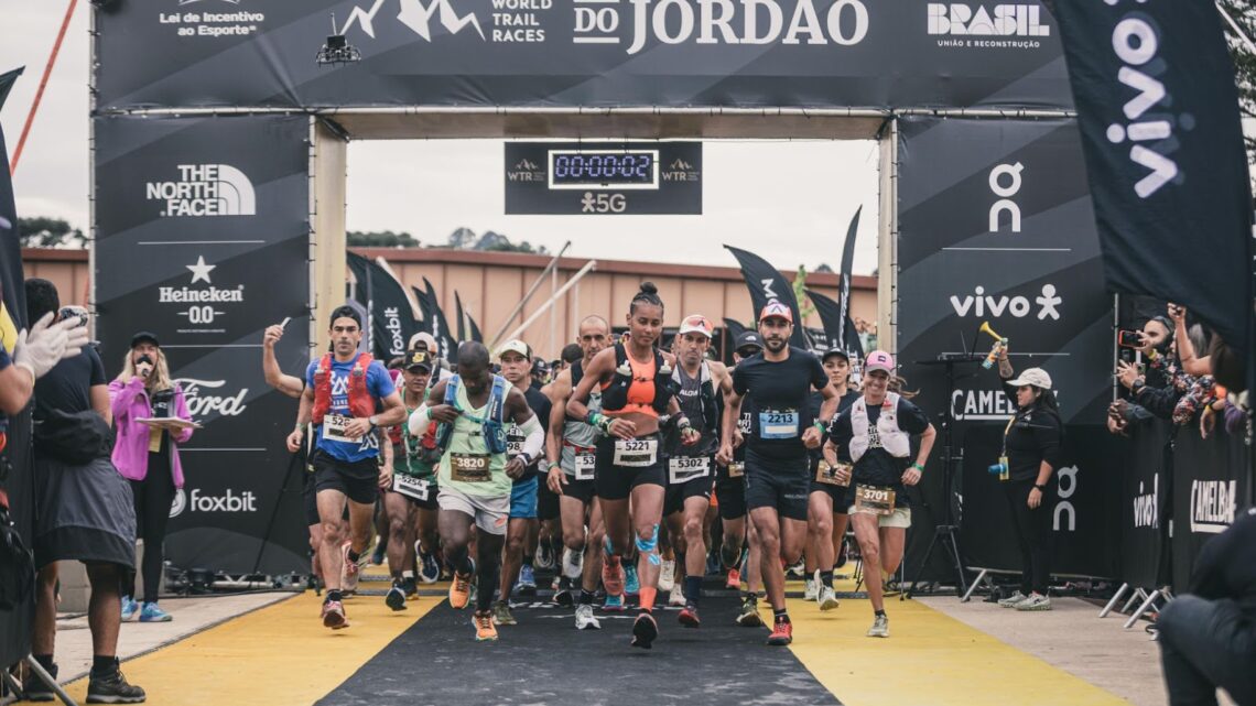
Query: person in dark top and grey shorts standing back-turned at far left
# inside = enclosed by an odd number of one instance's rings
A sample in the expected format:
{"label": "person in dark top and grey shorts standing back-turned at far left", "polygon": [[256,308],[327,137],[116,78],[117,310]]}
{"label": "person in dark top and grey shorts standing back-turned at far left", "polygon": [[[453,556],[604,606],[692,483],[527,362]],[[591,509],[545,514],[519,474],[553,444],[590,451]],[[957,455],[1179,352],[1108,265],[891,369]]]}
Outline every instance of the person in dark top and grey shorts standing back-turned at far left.
{"label": "person in dark top and grey shorts standing back-turned at far left", "polygon": [[[57,288],[45,279],[26,280],[30,320],[57,313]],[[62,309],[63,323],[87,320]],[[127,481],[109,461],[113,432],[104,364],[92,347],[57,364],[35,383],[35,565],[39,588],[31,653],[53,677],[57,637],[57,562],[79,560],[92,584],[88,626],[92,673],[88,701],[134,703],[144,691],[127,683],[118,670],[121,624],[118,588],[134,570],[136,515]],[[34,675],[23,687],[31,701],[51,701],[50,685]]]}

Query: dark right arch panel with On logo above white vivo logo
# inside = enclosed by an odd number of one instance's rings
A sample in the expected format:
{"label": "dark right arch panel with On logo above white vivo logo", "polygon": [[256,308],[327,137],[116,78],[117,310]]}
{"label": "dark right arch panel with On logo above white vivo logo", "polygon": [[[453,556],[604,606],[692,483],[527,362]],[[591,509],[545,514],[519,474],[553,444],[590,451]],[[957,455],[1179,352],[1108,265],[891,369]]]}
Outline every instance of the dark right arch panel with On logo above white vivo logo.
{"label": "dark right arch panel with On logo above white vivo logo", "polygon": [[[1016,371],[1050,373],[1070,431],[1102,425],[1112,394],[1112,298],[1075,123],[907,118],[899,134],[897,353],[908,389],[921,392],[917,405],[939,435],[951,406],[956,456],[976,428],[1002,432],[1015,401],[997,369],[961,362],[948,381],[946,366],[934,363],[942,354],[988,353],[995,338],[980,330],[987,323],[1009,339]],[[1070,433],[1070,448],[1075,438]],[[921,489],[929,510],[913,515],[924,530],[909,538],[908,575],[945,519],[943,456],[939,436]],[[995,456],[965,462],[983,475]],[[953,487],[985,480],[968,475]],[[965,536],[973,536],[970,520],[965,513]]]}

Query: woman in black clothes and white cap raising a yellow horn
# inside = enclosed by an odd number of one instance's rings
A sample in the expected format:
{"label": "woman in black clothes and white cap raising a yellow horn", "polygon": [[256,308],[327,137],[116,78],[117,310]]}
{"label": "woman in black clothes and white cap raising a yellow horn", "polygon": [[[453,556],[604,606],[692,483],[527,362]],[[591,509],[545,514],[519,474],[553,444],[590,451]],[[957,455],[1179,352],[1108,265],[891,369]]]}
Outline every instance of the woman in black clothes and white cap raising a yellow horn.
{"label": "woman in black clothes and white cap raising a yellow horn", "polygon": [[999,354],[999,376],[1004,391],[1016,399],[1016,415],[1004,431],[1000,475],[1007,505],[1012,511],[1012,530],[1020,545],[1020,589],[999,602],[1017,611],[1050,611],[1046,589],[1050,580],[1051,510],[1045,502],[1048,481],[1060,466],[1064,423],[1051,392],[1051,376],[1041,368],[1026,368],[1012,378],[1006,347]]}

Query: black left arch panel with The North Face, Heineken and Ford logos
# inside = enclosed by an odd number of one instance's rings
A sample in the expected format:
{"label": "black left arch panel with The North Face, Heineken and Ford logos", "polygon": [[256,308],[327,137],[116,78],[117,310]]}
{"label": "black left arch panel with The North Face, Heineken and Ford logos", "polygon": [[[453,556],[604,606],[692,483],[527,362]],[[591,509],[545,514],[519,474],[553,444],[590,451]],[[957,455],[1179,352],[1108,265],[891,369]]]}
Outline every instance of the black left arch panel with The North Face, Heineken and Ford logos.
{"label": "black left arch panel with The North Face, Heineken and Ford logos", "polygon": [[261,570],[308,570],[301,477],[286,474],[284,448],[295,403],[263,379],[260,344],[266,325],[291,318],[276,354],[304,374],[309,118],[112,117],[95,118],[94,133],[106,369],[117,374],[134,332],[154,332],[203,425],[180,448],[187,480],[167,557],[250,570],[274,514]]}

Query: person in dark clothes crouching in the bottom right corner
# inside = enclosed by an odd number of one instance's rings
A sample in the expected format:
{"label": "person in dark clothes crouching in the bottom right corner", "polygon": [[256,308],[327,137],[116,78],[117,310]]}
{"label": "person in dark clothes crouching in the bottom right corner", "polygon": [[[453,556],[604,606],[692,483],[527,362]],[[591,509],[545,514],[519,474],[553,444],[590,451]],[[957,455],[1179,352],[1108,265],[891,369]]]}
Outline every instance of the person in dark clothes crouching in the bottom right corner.
{"label": "person in dark clothes crouching in the bottom right corner", "polygon": [[1156,621],[1171,706],[1256,703],[1256,509],[1203,545],[1189,593]]}

